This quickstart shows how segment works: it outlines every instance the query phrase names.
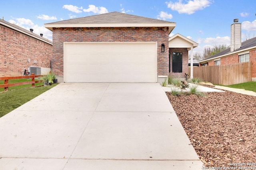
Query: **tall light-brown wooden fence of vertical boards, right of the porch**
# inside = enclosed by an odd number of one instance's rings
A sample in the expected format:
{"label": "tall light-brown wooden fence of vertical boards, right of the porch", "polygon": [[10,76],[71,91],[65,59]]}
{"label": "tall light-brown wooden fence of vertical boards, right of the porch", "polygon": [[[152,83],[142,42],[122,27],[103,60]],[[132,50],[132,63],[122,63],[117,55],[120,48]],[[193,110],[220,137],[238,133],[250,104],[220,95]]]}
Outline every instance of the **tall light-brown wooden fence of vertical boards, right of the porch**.
{"label": "tall light-brown wooden fence of vertical boards, right of the porch", "polygon": [[194,67],[193,77],[222,85],[250,82],[252,81],[252,62]]}

